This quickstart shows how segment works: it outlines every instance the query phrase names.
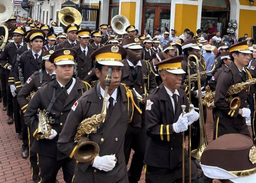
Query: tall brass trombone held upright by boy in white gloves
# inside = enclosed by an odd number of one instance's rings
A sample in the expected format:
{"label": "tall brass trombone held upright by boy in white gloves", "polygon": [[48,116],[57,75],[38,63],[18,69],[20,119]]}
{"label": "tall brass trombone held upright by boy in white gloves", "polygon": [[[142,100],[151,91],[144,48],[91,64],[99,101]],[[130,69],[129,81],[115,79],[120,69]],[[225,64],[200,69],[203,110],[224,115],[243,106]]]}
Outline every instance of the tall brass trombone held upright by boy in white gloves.
{"label": "tall brass trombone held upright by boy in white gloves", "polygon": [[[190,61],[190,58],[194,58],[194,61]],[[192,173],[192,166],[191,166],[191,156],[195,157],[196,159],[200,159],[201,155],[203,153],[203,150],[207,147],[208,142],[207,142],[207,137],[206,137],[206,131],[205,131],[205,125],[204,125],[204,117],[203,117],[203,105],[202,105],[202,95],[201,95],[201,75],[199,72],[199,60],[197,56],[194,54],[191,54],[187,57],[187,73],[188,73],[188,98],[189,98],[189,104],[191,104],[191,80],[192,77],[190,75],[190,68],[191,65],[196,66],[196,71],[197,71],[197,86],[198,86],[198,100],[199,100],[199,123],[200,123],[200,139],[199,139],[199,145],[197,149],[191,150],[191,125],[189,125],[189,183],[191,183],[191,173]],[[183,141],[185,144],[185,142]],[[185,165],[185,161],[182,162],[182,164]],[[185,171],[185,169],[184,169]]]}

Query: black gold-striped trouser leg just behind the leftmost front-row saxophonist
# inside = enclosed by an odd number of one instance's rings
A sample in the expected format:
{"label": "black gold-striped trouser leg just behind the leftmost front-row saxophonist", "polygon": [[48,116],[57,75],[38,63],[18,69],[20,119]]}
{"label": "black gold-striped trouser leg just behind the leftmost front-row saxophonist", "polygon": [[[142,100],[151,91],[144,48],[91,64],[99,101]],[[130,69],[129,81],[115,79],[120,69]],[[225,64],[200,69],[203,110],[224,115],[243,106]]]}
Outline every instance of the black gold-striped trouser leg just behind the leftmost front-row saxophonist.
{"label": "black gold-striped trouser leg just behind the leftmost front-row saxophonist", "polygon": [[39,180],[39,166],[37,164],[37,153],[30,151],[35,138],[33,134],[30,133],[28,129],[28,145],[29,145],[29,161],[30,161],[30,168],[31,168],[31,176],[33,180]]}

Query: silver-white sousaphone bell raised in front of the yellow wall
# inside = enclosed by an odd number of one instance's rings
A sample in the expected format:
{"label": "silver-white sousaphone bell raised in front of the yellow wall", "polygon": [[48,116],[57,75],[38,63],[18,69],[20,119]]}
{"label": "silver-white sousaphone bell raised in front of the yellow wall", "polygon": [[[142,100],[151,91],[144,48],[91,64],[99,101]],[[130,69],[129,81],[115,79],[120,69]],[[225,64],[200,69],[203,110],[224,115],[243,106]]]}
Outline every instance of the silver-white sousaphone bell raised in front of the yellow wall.
{"label": "silver-white sousaphone bell raised in front of the yellow wall", "polygon": [[125,29],[128,26],[130,26],[130,22],[124,15],[116,15],[111,20],[111,27],[117,34],[125,34]]}

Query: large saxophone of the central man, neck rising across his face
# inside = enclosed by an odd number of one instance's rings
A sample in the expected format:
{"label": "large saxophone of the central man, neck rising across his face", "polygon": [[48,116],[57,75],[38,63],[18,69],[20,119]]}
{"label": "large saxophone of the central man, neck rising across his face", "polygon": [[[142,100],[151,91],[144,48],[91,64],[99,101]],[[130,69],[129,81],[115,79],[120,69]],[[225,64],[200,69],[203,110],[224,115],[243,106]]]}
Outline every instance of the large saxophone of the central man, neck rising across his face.
{"label": "large saxophone of the central man, neck rising across his face", "polygon": [[91,133],[96,133],[101,123],[104,122],[107,115],[108,89],[111,82],[112,69],[109,68],[105,79],[104,102],[101,114],[93,115],[84,119],[78,126],[74,141],[77,142],[74,151],[74,158],[78,162],[90,162],[99,153],[99,145],[89,139]]}

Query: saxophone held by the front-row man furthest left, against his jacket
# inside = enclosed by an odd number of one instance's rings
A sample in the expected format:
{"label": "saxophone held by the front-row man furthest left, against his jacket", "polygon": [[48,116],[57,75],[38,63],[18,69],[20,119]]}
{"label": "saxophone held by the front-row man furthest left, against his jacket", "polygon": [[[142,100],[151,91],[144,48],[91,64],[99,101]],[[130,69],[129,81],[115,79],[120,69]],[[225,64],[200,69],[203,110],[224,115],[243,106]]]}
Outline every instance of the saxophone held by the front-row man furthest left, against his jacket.
{"label": "saxophone held by the front-row man furthest left, against his jacket", "polygon": [[51,133],[52,126],[51,124],[55,121],[55,114],[53,117],[48,118],[48,112],[45,109],[37,110],[37,117],[38,117],[38,125],[37,125],[37,132],[35,134],[36,139],[43,139],[48,138]]}

